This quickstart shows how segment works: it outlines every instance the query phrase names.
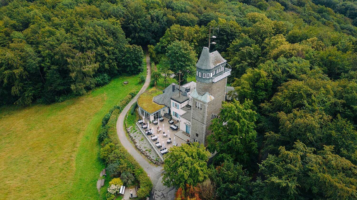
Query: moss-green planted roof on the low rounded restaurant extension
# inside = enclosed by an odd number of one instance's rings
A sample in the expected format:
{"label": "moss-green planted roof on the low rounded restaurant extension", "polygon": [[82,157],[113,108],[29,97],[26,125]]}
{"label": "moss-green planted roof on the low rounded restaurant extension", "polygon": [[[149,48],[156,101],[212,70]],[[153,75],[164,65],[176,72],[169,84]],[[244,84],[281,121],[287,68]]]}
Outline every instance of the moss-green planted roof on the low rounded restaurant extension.
{"label": "moss-green planted roof on the low rounded restaurant extension", "polygon": [[154,96],[162,94],[162,90],[157,88],[151,88],[142,93],[137,99],[137,105],[139,105],[142,109],[150,114],[154,113],[165,107],[165,105],[159,105],[152,101]]}

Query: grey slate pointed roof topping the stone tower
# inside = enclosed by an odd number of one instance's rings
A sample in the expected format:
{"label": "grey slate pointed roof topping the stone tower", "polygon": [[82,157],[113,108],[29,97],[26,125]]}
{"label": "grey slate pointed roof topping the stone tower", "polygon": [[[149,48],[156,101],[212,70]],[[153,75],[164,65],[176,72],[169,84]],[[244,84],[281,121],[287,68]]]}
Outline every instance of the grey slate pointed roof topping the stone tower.
{"label": "grey slate pointed roof topping the stone tower", "polygon": [[225,62],[227,62],[227,60],[222,58],[221,54],[218,53],[218,51],[210,53],[207,47],[203,47],[200,59],[198,59],[196,67],[200,69],[213,69],[217,65]]}

